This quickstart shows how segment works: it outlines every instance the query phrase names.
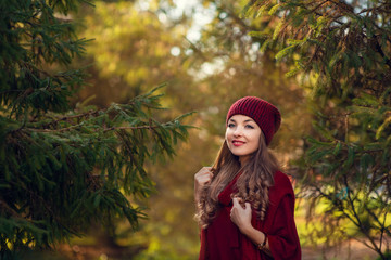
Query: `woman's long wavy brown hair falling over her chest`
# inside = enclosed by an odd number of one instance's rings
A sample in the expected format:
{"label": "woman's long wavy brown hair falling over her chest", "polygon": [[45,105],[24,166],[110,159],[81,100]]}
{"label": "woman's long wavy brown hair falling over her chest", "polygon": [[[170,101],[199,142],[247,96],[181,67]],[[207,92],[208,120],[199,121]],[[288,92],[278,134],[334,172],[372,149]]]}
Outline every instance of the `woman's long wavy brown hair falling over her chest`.
{"label": "woman's long wavy brown hair falling over her chest", "polygon": [[212,182],[204,186],[197,205],[195,220],[200,226],[206,229],[216,217],[219,209],[218,194],[239,172],[242,173],[237,181],[238,193],[235,195],[250,203],[258,219],[264,220],[269,202],[268,190],[274,185],[276,170],[277,159],[267,148],[263,133],[257,151],[244,166],[240,165],[239,157],[230,152],[227,141],[224,141],[212,167]]}

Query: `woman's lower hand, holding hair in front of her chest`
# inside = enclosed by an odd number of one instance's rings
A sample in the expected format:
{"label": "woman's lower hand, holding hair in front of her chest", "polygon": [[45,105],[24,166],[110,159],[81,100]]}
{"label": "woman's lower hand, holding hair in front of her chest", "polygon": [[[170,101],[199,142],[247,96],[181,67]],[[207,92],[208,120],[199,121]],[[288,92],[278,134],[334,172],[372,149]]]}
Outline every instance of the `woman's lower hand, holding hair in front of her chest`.
{"label": "woman's lower hand, holding hair in front of her chest", "polygon": [[230,212],[230,219],[239,227],[240,232],[245,234],[252,229],[251,205],[245,203],[242,206],[242,199],[239,197],[234,197],[232,204],[234,206]]}

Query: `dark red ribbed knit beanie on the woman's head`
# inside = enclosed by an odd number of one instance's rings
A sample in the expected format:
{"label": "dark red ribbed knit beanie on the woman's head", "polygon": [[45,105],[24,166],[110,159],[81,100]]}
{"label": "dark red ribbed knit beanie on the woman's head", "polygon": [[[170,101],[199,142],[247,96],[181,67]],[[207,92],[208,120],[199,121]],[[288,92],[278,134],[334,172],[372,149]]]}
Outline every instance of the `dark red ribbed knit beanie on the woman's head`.
{"label": "dark red ribbed knit beanie on the woman's head", "polygon": [[244,96],[236,101],[228,110],[226,122],[238,114],[251,117],[260,126],[266,145],[270,143],[281,123],[281,115],[277,107],[256,96]]}

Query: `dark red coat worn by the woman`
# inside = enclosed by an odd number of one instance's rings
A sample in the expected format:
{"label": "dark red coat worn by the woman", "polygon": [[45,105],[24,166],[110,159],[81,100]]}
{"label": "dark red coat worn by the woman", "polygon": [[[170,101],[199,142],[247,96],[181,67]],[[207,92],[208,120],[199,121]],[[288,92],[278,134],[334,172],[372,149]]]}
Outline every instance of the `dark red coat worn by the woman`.
{"label": "dark red coat worn by the woman", "polygon": [[[200,260],[269,260],[273,259],[243,234],[230,220],[232,200],[239,174],[218,195],[222,208],[217,217],[201,231]],[[267,235],[275,260],[300,260],[301,248],[294,223],[294,193],[290,180],[280,171],[275,173],[269,188],[269,205],[264,221],[253,210],[252,225]]]}

